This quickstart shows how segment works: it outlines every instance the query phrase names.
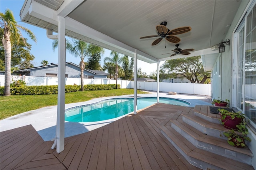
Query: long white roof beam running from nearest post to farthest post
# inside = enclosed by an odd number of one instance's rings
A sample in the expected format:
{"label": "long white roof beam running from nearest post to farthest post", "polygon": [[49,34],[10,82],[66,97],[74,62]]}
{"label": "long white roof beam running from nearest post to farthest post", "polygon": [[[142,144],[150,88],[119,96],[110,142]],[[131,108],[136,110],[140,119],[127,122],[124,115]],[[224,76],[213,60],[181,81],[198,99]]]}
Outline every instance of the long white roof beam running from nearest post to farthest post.
{"label": "long white roof beam running from nearest post to farthest post", "polygon": [[[110,36],[102,34],[101,32],[98,32],[98,31],[72,19],[72,18],[66,17],[66,28],[70,31],[84,35],[88,38],[94,39],[94,40],[102,42],[104,44],[108,44],[115,48],[119,48],[120,50],[124,50],[126,52],[135,54],[135,48],[132,48],[118,40],[115,40],[114,38],[111,38]],[[137,50],[137,53],[142,58],[144,57],[149,61],[158,62],[158,60],[156,58],[154,58],[144,52],[141,52],[140,50]]]}

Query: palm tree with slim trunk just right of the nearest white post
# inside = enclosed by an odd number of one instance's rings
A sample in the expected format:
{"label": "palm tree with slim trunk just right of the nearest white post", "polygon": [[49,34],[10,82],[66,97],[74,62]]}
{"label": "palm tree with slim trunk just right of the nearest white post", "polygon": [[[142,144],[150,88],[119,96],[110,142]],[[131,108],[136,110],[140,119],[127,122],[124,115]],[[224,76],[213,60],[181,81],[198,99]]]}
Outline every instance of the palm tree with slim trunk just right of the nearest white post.
{"label": "palm tree with slim trunk just right of the nearest white post", "polygon": [[[54,40],[52,42],[53,51],[58,47],[58,40]],[[75,40],[71,43],[69,40],[66,40],[66,50],[73,54],[75,57],[80,57],[80,70],[81,70],[81,91],[84,91],[84,58],[89,56],[90,54],[95,53],[104,53],[104,49],[102,47],[95,46],[93,44],[88,44],[84,41]]]}

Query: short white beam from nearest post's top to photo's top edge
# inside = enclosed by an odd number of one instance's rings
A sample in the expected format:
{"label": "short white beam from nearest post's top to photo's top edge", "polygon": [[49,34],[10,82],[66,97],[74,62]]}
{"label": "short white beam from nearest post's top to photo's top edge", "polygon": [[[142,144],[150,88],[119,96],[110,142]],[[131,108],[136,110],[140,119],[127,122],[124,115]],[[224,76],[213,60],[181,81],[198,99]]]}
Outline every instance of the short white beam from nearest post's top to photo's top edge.
{"label": "short white beam from nearest post's top to photo's top edge", "polygon": [[76,7],[78,7],[84,0],[65,0],[60,8],[56,11],[57,16],[66,17]]}

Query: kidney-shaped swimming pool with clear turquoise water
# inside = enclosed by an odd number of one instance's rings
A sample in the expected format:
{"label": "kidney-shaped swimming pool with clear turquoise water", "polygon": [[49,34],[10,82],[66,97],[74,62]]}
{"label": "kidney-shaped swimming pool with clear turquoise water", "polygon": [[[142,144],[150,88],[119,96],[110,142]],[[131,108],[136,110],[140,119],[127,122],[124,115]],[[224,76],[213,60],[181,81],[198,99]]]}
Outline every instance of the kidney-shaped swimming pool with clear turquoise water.
{"label": "kidney-shaped swimming pool with clear turquoise water", "polygon": [[[160,103],[189,106],[190,103],[174,98],[159,97]],[[156,97],[137,98],[137,109],[156,103]],[[65,110],[65,120],[69,122],[97,122],[124,116],[134,111],[133,98],[112,98],[94,104],[76,106]]]}

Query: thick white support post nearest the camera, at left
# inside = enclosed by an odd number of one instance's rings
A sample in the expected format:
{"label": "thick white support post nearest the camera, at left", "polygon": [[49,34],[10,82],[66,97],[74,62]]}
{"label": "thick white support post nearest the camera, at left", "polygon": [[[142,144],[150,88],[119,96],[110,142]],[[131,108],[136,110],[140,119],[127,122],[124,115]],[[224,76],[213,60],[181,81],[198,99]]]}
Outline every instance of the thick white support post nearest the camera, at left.
{"label": "thick white support post nearest the camera, at left", "polygon": [[66,39],[65,18],[59,17],[58,24],[58,106],[56,125],[57,152],[64,150],[65,128],[65,72],[66,72]]}

